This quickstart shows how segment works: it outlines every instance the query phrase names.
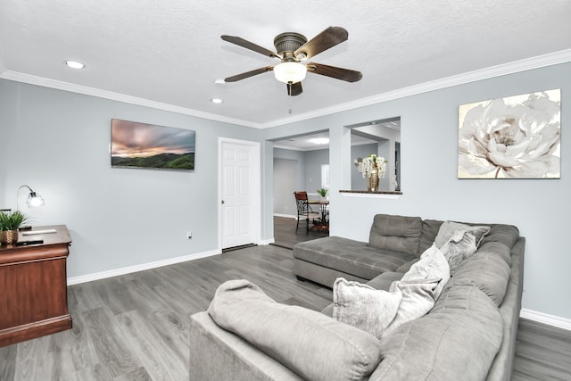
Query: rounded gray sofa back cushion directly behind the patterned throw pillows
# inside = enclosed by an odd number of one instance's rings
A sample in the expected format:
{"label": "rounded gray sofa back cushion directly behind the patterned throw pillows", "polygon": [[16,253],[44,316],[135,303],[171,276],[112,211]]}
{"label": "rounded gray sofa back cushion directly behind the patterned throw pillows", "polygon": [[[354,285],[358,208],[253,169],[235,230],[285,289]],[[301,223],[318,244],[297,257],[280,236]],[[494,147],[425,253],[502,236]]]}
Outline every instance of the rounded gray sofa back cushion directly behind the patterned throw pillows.
{"label": "rounded gray sofa back cushion directly behind the patterned throw pillows", "polygon": [[449,286],[476,286],[499,306],[506,294],[509,272],[509,265],[501,256],[478,251],[462,263]]}

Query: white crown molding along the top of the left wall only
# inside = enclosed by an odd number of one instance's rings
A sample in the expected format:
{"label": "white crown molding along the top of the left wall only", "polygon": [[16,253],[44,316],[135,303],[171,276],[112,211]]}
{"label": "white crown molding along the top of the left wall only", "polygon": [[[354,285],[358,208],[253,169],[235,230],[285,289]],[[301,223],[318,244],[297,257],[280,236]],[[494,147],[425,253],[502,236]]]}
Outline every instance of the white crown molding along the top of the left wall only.
{"label": "white crown molding along the top of the left wall only", "polygon": [[58,90],[70,91],[71,93],[78,93],[83,95],[92,95],[99,98],[111,99],[112,101],[124,102],[126,104],[137,104],[139,106],[150,107],[153,109],[164,110],[167,112],[178,112],[180,114],[190,115],[197,118],[208,120],[217,120],[224,123],[237,124],[244,127],[261,128],[260,123],[255,123],[248,120],[239,120],[235,118],[228,118],[225,116],[213,114],[210,112],[200,112],[186,107],[175,106],[172,104],[162,104],[161,102],[154,102],[144,98],[137,98],[137,96],[124,95],[120,93],[113,93],[112,91],[101,90],[95,87],[87,87],[74,85],[69,82],[62,82],[54,79],[46,79],[43,77],[32,76],[20,72],[6,70],[0,74],[1,79],[10,79],[17,82],[28,83],[30,85],[37,85],[42,87],[51,87]]}

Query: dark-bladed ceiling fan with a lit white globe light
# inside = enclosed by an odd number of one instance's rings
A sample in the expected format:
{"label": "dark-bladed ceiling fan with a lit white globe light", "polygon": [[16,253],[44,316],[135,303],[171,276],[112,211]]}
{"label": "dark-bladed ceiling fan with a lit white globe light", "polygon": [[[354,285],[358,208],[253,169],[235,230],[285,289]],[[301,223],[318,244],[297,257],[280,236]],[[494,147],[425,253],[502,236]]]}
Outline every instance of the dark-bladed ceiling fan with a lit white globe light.
{"label": "dark-bladed ceiling fan with a lit white globe light", "polygon": [[287,95],[300,95],[303,91],[302,80],[305,79],[305,74],[308,71],[347,82],[357,82],[363,77],[360,71],[337,68],[316,62],[302,63],[314,55],[346,41],[349,37],[349,33],[343,28],[329,27],[309,41],[299,33],[282,33],[274,38],[274,46],[276,46],[277,52],[272,52],[265,47],[253,44],[241,37],[227,35],[220,37],[224,41],[245,47],[246,49],[267,55],[279,61],[279,63],[274,66],[265,66],[260,69],[250,70],[228,77],[224,79],[226,82],[236,82],[265,73],[266,71],[274,71],[276,79],[287,85]]}

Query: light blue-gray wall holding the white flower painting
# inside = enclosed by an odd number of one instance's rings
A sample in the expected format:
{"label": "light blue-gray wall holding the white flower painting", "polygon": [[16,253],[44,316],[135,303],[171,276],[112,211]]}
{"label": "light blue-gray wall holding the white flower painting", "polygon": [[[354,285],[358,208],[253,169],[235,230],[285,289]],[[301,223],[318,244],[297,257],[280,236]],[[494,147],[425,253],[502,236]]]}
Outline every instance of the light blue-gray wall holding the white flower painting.
{"label": "light blue-gray wall holding the white flower painting", "polygon": [[[457,178],[459,104],[554,88],[561,88],[562,94],[560,179]],[[377,213],[516,225],[526,237],[523,307],[571,319],[569,94],[571,63],[564,63],[269,128],[264,135],[277,139],[308,133],[316,125],[329,128],[332,235],[367,240]],[[353,170],[350,139],[343,126],[393,116],[401,116],[404,195],[391,200],[339,194],[339,189],[350,186]]]}

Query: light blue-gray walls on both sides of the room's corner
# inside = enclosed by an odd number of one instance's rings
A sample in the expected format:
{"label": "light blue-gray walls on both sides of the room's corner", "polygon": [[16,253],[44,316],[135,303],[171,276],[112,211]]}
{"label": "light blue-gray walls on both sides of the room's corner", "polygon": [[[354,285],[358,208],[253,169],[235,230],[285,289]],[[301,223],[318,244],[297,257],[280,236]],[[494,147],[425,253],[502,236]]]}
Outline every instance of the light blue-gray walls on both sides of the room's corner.
{"label": "light blue-gray walls on both sides of the room's corner", "polygon": [[[458,106],[561,88],[561,178],[459,180]],[[279,139],[329,128],[331,234],[367,240],[376,213],[501,222],[526,236],[525,309],[571,319],[567,272],[571,215],[571,63],[486,79],[258,130],[87,95],[0,80],[0,207],[22,184],[46,206],[36,224],[67,224],[74,242],[69,276],[204,253],[217,248],[218,139]],[[351,185],[351,136],[343,126],[401,116],[398,200],[345,197]],[[110,120],[196,130],[196,170],[118,170],[109,166]],[[273,236],[273,145],[261,145],[261,238]],[[186,240],[186,230],[194,237]]]}

